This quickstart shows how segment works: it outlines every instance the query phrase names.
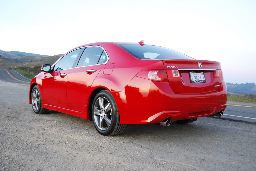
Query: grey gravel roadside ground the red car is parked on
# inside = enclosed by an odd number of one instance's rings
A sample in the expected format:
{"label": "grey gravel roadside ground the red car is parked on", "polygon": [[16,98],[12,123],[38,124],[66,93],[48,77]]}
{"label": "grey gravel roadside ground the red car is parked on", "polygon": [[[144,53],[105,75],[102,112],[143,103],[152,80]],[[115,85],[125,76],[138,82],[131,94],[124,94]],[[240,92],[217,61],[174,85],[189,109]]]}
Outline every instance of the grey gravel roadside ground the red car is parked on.
{"label": "grey gravel roadside ground the red car is parked on", "polygon": [[255,170],[255,125],[198,118],[128,125],[104,137],[93,123],[35,114],[29,86],[0,81],[0,170]]}

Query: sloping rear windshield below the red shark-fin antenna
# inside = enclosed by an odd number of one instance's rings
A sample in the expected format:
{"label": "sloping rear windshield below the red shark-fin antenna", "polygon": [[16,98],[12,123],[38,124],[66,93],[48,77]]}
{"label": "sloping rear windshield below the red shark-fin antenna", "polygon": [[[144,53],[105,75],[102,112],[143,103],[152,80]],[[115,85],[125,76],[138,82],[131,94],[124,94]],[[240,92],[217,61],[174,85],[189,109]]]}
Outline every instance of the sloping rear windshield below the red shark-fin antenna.
{"label": "sloping rear windshield below the red shark-fin antenna", "polygon": [[174,50],[153,45],[117,44],[125,51],[139,59],[193,59]]}

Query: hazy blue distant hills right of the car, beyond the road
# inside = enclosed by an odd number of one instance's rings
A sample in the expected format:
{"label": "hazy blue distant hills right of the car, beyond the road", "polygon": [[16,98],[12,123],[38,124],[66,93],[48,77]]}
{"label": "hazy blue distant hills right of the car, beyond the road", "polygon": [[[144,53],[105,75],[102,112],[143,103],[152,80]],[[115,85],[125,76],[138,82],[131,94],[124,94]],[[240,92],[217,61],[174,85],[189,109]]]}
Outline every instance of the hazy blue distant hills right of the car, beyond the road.
{"label": "hazy blue distant hills right of the car, beyond the road", "polygon": [[227,89],[232,93],[241,93],[241,94],[256,94],[256,85],[255,83],[242,83],[242,84],[233,84],[227,82]]}

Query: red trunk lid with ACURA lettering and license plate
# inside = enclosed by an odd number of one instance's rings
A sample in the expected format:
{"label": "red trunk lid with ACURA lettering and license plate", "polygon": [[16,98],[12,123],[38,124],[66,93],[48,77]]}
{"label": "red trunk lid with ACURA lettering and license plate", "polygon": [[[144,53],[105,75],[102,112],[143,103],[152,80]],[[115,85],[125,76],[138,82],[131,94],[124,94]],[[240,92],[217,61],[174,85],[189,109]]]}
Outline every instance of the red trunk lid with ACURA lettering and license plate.
{"label": "red trunk lid with ACURA lettering and license plate", "polygon": [[174,93],[201,94],[220,89],[220,63],[207,60],[163,60]]}

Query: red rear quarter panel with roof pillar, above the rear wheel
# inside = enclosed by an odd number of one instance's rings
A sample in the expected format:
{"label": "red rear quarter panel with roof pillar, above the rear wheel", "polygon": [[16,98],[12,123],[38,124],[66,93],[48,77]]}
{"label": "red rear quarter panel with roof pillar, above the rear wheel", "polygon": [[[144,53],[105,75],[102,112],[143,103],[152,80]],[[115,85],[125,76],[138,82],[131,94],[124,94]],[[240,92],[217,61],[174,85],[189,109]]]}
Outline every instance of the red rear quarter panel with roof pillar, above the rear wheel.
{"label": "red rear quarter panel with roof pillar, above the rear wheel", "polygon": [[[122,91],[141,70],[164,69],[162,60],[137,59],[114,43],[99,44],[104,47],[109,61],[100,71],[92,84],[92,89],[104,86],[110,91]],[[108,64],[115,64],[110,75],[104,75]]]}

